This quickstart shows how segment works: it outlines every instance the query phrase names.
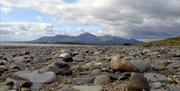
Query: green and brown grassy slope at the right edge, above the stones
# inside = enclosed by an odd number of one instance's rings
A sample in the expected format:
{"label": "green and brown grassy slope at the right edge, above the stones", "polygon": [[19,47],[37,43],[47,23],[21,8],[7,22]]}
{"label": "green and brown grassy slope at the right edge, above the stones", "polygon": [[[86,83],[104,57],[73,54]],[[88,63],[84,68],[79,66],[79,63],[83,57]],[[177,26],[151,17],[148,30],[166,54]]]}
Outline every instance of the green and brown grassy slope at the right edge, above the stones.
{"label": "green and brown grassy slope at the right edge, above the stones", "polygon": [[140,46],[175,46],[180,45],[180,36],[174,38],[168,38],[158,41],[145,42],[143,44],[139,44]]}

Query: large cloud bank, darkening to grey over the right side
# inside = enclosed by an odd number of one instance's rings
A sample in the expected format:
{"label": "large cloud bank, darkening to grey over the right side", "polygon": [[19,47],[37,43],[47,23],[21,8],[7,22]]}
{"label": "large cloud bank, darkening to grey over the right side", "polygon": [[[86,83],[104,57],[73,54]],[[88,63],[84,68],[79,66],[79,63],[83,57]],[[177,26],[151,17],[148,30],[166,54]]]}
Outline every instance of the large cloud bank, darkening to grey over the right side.
{"label": "large cloud bank, darkening to grey over the right side", "polygon": [[2,0],[11,8],[31,8],[67,23],[95,24],[104,34],[127,38],[180,35],[179,0]]}

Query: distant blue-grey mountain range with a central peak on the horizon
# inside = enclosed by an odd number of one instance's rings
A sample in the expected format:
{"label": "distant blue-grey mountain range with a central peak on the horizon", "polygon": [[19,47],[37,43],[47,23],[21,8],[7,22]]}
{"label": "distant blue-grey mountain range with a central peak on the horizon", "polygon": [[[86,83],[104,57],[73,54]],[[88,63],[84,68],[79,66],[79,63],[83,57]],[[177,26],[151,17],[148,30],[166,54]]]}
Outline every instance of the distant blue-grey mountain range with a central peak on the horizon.
{"label": "distant blue-grey mountain range with a central peak on the horizon", "polygon": [[139,44],[141,41],[125,39],[111,35],[95,36],[91,33],[83,33],[78,36],[56,35],[41,37],[31,42],[38,43],[78,43],[78,44]]}

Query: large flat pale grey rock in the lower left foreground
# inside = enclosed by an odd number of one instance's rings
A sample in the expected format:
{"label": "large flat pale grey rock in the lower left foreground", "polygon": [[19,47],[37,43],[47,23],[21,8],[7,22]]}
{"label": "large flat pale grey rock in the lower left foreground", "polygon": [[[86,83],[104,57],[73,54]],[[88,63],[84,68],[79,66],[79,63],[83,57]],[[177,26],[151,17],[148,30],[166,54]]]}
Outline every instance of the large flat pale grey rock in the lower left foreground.
{"label": "large flat pale grey rock in the lower left foreground", "polygon": [[27,70],[15,72],[14,76],[31,81],[33,83],[32,89],[35,91],[39,91],[43,84],[51,83],[56,78],[54,72],[45,72],[40,74],[38,71],[31,72]]}

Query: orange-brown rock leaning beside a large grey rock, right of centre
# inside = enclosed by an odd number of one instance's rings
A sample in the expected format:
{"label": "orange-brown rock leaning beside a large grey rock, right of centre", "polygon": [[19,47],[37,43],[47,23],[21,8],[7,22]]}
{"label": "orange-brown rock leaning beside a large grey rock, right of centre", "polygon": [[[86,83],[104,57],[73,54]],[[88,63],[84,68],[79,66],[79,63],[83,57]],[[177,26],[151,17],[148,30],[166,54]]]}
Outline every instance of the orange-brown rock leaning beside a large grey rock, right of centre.
{"label": "orange-brown rock leaning beside a large grey rock, right of centre", "polygon": [[129,63],[127,60],[120,59],[117,56],[113,56],[111,59],[111,68],[113,71],[121,72],[134,72],[137,71],[136,67]]}

